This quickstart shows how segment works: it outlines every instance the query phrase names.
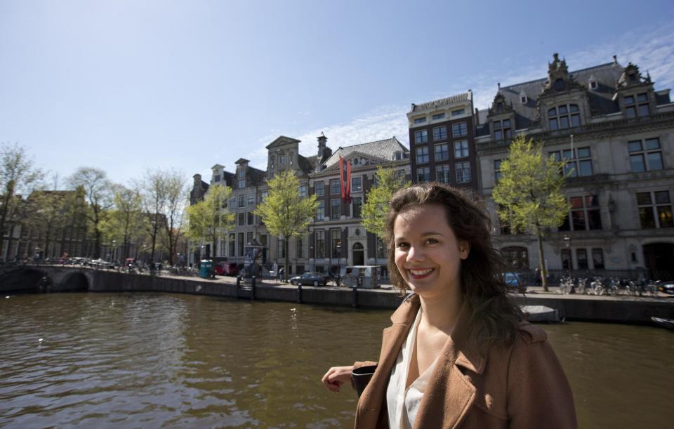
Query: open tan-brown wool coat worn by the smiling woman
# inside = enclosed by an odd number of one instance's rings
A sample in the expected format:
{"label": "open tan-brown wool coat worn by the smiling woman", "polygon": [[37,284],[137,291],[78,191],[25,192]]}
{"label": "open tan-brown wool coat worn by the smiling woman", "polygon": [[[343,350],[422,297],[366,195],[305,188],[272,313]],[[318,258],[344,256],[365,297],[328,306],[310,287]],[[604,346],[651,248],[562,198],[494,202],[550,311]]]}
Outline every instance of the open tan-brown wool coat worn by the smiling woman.
{"label": "open tan-brown wool coat worn by the smiling woman", "polygon": [[[378,367],[356,411],[357,429],[388,428],[386,388],[419,308],[412,296],[384,329]],[[470,308],[463,305],[419,405],[414,428],[576,428],[571,388],[546,332],[521,322],[510,347],[487,356],[468,347]],[[356,362],[355,367],[376,364]]]}

